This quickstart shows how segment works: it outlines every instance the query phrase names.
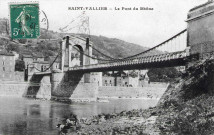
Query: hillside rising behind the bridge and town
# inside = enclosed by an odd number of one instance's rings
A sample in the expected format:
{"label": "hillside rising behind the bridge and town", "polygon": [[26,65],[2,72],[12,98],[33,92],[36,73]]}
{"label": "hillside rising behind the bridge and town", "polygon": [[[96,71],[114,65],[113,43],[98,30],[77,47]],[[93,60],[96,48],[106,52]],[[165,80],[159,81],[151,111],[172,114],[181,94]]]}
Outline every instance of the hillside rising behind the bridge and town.
{"label": "hillside rising behind the bridge and town", "polygon": [[[7,36],[7,19],[0,19],[0,34],[4,34]],[[54,31],[46,31],[44,29],[41,29],[41,36],[40,39],[61,39],[65,35],[70,35],[70,33],[57,33]],[[80,35],[82,37],[86,37],[85,35]],[[116,38],[108,38],[104,36],[95,36],[91,35],[90,40],[94,43],[94,48],[99,50],[100,52],[114,57],[114,58],[123,58],[127,56],[134,55],[136,53],[142,52],[147,50],[148,48],[142,47],[137,44],[128,43],[120,39]],[[60,40],[59,40],[60,41]],[[19,40],[20,43],[26,43],[26,40]],[[20,50],[28,50],[30,52],[42,52],[44,56],[49,55],[55,55],[56,52],[59,49],[59,42],[58,41],[44,41],[44,40],[28,40],[28,46],[24,47],[20,46],[19,48],[11,45],[12,42],[5,42],[3,39],[0,39],[0,47],[8,44],[6,47],[8,48],[8,51],[17,51]],[[42,46],[41,46],[42,45]],[[15,47],[15,48],[14,48]],[[159,53],[158,51],[152,52],[154,54]],[[103,57],[107,58],[105,56],[102,56],[100,53],[98,53],[96,50],[93,50],[93,55],[97,57]]]}

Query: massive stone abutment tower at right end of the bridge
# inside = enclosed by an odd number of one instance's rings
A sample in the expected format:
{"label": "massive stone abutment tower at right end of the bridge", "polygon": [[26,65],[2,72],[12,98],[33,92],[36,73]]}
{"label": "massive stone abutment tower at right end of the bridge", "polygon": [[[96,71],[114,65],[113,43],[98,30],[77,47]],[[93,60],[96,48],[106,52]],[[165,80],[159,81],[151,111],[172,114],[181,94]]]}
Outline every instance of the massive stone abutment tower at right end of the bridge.
{"label": "massive stone abutment tower at right end of the bridge", "polygon": [[190,55],[199,54],[201,59],[214,56],[214,2],[192,8],[186,21]]}

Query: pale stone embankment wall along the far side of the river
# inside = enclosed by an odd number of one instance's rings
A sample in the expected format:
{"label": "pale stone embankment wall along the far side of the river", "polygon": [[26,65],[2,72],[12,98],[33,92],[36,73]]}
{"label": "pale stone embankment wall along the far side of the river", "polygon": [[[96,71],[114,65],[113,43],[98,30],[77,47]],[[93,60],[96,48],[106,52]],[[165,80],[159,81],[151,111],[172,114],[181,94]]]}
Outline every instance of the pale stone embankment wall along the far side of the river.
{"label": "pale stone embankment wall along the far side of the river", "polygon": [[[160,99],[168,87],[167,83],[151,82],[144,87],[117,87],[117,86],[100,86],[95,93],[96,96],[85,98],[88,89],[84,88],[74,91],[70,98],[53,96],[51,92],[51,83],[47,81],[41,83],[18,82],[18,81],[1,81],[0,96],[11,97],[29,97],[39,99],[52,99],[64,103],[70,102],[100,102],[109,99]],[[95,90],[96,91],[96,90]]]}

